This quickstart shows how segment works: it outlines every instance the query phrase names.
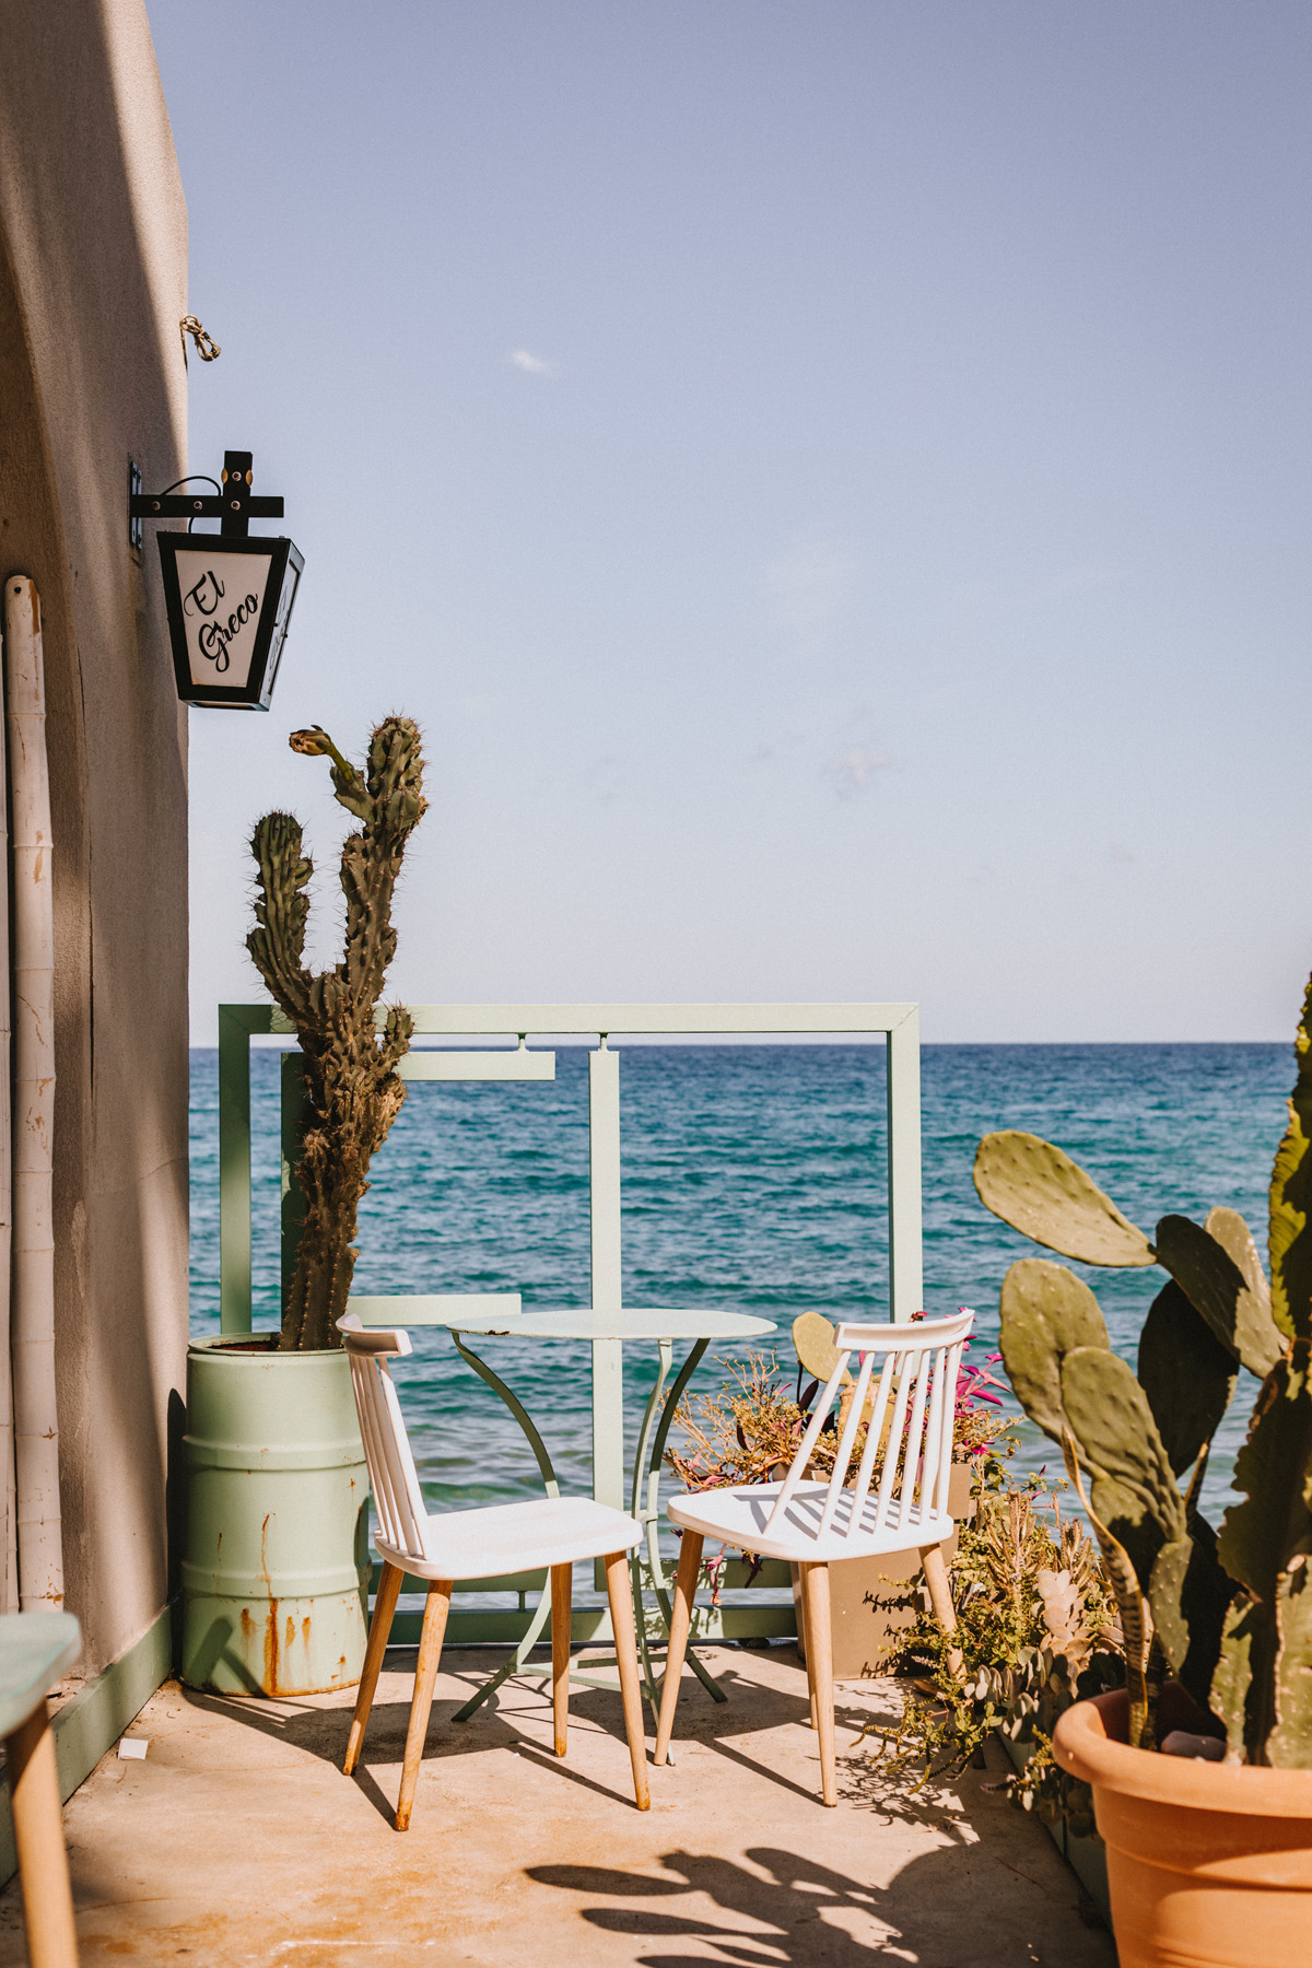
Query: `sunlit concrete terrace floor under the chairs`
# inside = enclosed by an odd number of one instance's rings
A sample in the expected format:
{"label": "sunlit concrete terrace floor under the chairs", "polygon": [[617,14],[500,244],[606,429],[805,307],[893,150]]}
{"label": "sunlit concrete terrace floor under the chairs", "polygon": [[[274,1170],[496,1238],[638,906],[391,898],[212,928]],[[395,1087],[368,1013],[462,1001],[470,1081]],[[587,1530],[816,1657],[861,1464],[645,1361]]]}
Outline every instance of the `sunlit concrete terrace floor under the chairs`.
{"label": "sunlit concrete terrace floor under the chairs", "polygon": [[[818,1803],[793,1647],[704,1649],[730,1700],[685,1677],[677,1767],[633,1809],[620,1696],[570,1691],[551,1753],[545,1681],[452,1708],[498,1655],[443,1661],[411,1830],[391,1826],[413,1649],[393,1649],[366,1759],[340,1775],[352,1694],[220,1700],[165,1685],[106,1755],[65,1828],[83,1964],[224,1968],[1113,1968],[1046,1832],[968,1771],[950,1791],[875,1797],[850,1750],[889,1685],[838,1689],[840,1791]],[[0,1968],[26,1960],[18,1883]]]}

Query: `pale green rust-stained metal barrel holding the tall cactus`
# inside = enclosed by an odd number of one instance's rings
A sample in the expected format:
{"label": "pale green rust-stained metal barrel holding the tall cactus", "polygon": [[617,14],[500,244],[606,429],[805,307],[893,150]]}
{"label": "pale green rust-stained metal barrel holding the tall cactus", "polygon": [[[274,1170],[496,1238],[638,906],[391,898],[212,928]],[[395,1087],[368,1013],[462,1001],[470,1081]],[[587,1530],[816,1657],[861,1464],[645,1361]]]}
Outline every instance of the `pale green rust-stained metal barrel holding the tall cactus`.
{"label": "pale green rust-stained metal barrel holding the tall cactus", "polygon": [[187,1352],[181,1677],[220,1694],[348,1689],[364,1665],[368,1474],[342,1352]]}

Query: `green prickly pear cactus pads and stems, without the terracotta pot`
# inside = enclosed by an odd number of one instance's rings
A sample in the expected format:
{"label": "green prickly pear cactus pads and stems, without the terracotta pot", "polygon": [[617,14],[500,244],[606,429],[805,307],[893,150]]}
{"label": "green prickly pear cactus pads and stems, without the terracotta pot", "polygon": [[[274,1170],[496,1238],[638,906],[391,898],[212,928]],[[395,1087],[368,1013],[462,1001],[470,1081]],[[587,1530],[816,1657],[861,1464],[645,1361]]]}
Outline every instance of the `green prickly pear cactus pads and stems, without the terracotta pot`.
{"label": "green prickly pear cactus pads and stems, without the terracotta pot", "polygon": [[[1068,1155],[1029,1134],[976,1153],[980,1199],[1037,1244],[1168,1283],[1139,1338],[1111,1352],[1090,1287],[1046,1260],[1013,1263],[1001,1352],[1025,1413],[1062,1454],[1121,1606],[1131,1742],[1153,1748],[1164,1669],[1251,1763],[1312,1767],[1312,984],[1298,1082],[1271,1177],[1271,1287],[1247,1224],[1163,1216],[1155,1242]],[[1220,1539],[1198,1511],[1237,1368],[1261,1380]],[[1186,1494],[1176,1478],[1186,1476]]]}

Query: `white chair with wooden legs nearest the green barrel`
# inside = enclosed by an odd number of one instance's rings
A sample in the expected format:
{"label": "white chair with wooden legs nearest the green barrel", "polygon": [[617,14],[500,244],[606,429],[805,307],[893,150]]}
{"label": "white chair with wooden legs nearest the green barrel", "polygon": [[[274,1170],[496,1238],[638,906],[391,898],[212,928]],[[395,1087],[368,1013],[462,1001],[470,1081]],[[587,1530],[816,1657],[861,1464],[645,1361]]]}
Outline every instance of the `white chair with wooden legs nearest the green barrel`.
{"label": "white chair with wooden legs nearest the green barrel", "polygon": [[502,1572],[525,1572],[551,1567],[551,1683],[555,1708],[555,1750],[565,1755],[568,1724],[568,1645],[570,1645],[570,1580],[578,1559],[606,1561],[606,1592],[616,1633],[620,1663],[620,1694],[624,1726],[633,1763],[633,1793],[637,1809],[647,1811],[647,1746],[643,1742],[643,1704],[637,1681],[637,1637],[633,1631],[633,1602],[629,1598],[627,1553],[641,1543],[641,1525],[622,1509],[594,1504],[584,1496],[537,1498],[527,1504],[496,1504],[482,1509],[450,1509],[433,1517],[423,1506],[415,1458],[409,1448],[397,1391],[388,1372],[388,1360],[411,1350],[403,1330],[368,1332],[354,1313],[338,1319],[350,1382],[360,1415],[364,1456],[370,1466],[374,1513],[378,1529],[374,1543],[384,1561],[370,1641],[364,1653],[360,1694],[346,1744],[344,1773],[360,1761],[364,1730],[374,1704],[378,1671],[391,1631],[391,1616],[401,1592],[401,1578],[425,1578],[429,1596],[423,1608],[419,1635],[419,1665],[415,1696],[405,1736],[401,1793],[395,1826],[409,1826],[419,1781],[419,1761],[429,1732],[433,1685],[443,1655],[443,1633],[450,1612],[450,1588],[460,1578],[496,1578]]}

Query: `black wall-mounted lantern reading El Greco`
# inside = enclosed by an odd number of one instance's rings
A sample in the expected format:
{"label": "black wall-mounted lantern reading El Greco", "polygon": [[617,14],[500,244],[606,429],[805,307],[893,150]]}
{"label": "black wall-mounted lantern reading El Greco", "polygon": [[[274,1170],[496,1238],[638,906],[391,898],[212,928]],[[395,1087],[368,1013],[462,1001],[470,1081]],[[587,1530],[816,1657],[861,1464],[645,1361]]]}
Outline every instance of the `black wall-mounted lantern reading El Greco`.
{"label": "black wall-mounted lantern reading El Greco", "polygon": [[[128,523],[218,520],[218,533],[159,533],[177,695],[187,705],[268,710],[305,561],[289,539],[250,537],[252,520],[281,520],[281,498],[250,490],[250,451],[226,451],[222,486],[193,498],[144,494],[130,468]],[[187,480],[179,480],[187,484]],[[214,484],[214,480],[209,480]]]}

